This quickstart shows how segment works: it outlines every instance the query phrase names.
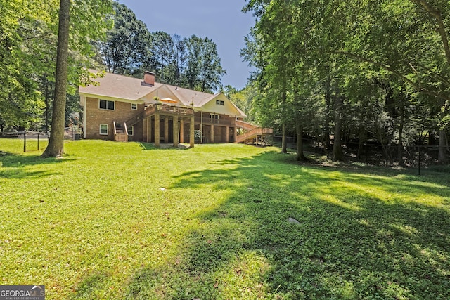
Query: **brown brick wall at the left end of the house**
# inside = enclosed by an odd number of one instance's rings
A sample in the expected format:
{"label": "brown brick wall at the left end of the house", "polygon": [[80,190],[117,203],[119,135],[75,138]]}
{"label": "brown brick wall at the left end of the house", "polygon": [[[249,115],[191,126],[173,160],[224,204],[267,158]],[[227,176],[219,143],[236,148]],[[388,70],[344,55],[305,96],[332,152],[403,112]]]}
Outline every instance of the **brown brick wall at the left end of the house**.
{"label": "brown brick wall at the left end of the house", "polygon": [[[98,98],[86,98],[86,138],[114,140],[113,122],[123,124],[135,115],[143,112],[144,105],[137,105],[137,110],[131,110],[131,103],[115,101],[115,110],[102,110],[99,108]],[[108,135],[100,134],[100,124],[108,124]],[[141,141],[143,122],[134,124],[134,136],[129,141]]]}

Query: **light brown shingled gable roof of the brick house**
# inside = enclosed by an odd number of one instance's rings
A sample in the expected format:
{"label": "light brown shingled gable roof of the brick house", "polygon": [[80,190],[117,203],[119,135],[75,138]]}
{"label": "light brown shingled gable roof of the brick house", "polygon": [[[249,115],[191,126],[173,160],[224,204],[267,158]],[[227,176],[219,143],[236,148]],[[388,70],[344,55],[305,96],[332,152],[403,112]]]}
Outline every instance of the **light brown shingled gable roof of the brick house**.
{"label": "light brown shingled gable roof of the brick house", "polygon": [[[89,72],[98,74],[96,70]],[[224,98],[231,104],[231,110],[226,112],[228,115],[236,115],[238,117],[247,117],[234,103],[232,103],[223,93],[211,94],[191,89],[184,89],[179,86],[170,84],[160,84],[155,82],[154,85],[145,84],[143,79],[127,77],[113,73],[105,73],[103,77],[91,79],[98,84],[89,84],[87,86],[79,86],[80,95],[99,96],[105,98],[114,98],[117,100],[136,101],[140,103],[155,103],[153,98],[160,94],[158,98],[174,98],[177,103],[191,107],[193,106],[202,110],[203,106],[216,98]],[[163,96],[166,95],[166,96]]]}

